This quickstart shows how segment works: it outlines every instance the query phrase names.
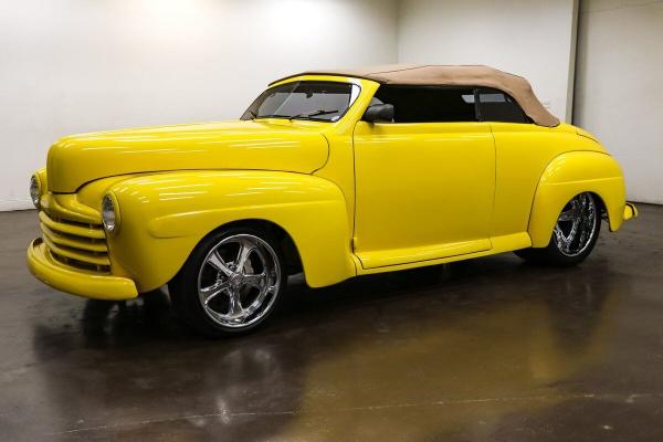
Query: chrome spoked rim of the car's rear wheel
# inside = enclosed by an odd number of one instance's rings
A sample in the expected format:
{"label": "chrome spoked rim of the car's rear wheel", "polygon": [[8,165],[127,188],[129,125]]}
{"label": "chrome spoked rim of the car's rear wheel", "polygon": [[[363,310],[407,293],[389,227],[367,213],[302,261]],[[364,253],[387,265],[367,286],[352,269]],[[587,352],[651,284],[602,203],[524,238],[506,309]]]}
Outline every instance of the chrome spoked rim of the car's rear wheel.
{"label": "chrome spoked rim of the car's rear wheel", "polygon": [[591,193],[573,197],[561,210],[552,238],[559,252],[578,256],[589,246],[600,222]]}

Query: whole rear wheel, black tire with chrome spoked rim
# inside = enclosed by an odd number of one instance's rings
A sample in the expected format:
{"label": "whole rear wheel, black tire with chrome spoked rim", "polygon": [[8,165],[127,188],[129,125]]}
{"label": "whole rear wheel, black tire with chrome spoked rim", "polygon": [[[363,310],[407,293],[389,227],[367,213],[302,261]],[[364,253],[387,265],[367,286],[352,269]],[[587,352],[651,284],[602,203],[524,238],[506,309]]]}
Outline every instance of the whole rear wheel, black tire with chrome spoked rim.
{"label": "whole rear wheel, black tire with chrome spoked rim", "polygon": [[575,265],[592,251],[601,231],[601,208],[592,193],[573,197],[561,210],[547,248],[515,253],[525,261]]}

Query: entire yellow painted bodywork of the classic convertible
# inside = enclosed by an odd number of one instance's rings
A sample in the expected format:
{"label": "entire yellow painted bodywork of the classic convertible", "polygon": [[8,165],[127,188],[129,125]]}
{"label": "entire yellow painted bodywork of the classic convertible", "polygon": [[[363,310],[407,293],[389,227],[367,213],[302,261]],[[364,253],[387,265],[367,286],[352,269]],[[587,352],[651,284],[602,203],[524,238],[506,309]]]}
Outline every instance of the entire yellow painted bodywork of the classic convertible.
{"label": "entire yellow painted bodywork of the classic convertible", "polygon": [[[559,211],[579,192],[601,198],[611,230],[636,214],[625,206],[619,166],[585,130],[368,124],[360,119],[377,83],[320,75],[285,82],[302,80],[351,82],[361,93],[335,123],[233,120],[57,141],[48,172],[38,172],[49,246],[30,246],[31,271],[65,292],[134,297],[167,283],[210,232],[261,220],[291,235],[307,283],[324,286],[545,246]],[[101,230],[107,192],[122,213],[110,234]],[[106,245],[66,233],[106,238]],[[65,265],[50,248],[88,264],[108,262],[110,271]],[[87,280],[95,281],[90,290]]]}

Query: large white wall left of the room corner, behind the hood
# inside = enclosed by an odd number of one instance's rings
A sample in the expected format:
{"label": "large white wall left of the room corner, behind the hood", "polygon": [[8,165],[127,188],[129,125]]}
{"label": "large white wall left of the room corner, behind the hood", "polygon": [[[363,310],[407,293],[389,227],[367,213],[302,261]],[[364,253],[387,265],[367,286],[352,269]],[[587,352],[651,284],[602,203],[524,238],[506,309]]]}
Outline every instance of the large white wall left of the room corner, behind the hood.
{"label": "large white wall left of the room corner, behind the hood", "polygon": [[0,2],[0,210],[63,135],[238,117],[267,82],[397,61],[389,0]]}

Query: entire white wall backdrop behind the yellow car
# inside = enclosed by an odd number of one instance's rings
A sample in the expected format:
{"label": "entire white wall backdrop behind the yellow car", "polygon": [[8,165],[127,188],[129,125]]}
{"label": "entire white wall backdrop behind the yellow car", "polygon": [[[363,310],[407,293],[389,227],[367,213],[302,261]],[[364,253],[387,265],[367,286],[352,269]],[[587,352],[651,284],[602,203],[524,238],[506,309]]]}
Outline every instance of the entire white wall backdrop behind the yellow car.
{"label": "entire white wall backdrop behind the yellow car", "polygon": [[[67,134],[232,118],[301,70],[488,64],[571,120],[578,0],[0,2],[0,210]],[[575,122],[663,203],[663,1],[583,0]]]}

